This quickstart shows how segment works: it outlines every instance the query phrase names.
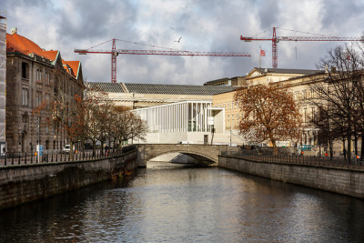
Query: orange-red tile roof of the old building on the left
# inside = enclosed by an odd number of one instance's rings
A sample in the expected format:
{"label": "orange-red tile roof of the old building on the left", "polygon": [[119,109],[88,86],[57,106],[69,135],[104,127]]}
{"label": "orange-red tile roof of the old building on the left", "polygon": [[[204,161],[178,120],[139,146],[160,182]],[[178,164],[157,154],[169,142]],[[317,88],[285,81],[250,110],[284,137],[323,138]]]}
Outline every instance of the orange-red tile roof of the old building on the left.
{"label": "orange-red tile roof of the old building on the left", "polygon": [[[24,55],[35,54],[37,56],[43,56],[50,61],[55,61],[59,53],[57,50],[45,51],[33,41],[17,34],[6,34],[6,52],[18,52]],[[67,73],[77,77],[78,67],[80,65],[79,61],[65,61],[62,59],[62,65],[65,67]],[[72,70],[69,70],[69,68]]]}

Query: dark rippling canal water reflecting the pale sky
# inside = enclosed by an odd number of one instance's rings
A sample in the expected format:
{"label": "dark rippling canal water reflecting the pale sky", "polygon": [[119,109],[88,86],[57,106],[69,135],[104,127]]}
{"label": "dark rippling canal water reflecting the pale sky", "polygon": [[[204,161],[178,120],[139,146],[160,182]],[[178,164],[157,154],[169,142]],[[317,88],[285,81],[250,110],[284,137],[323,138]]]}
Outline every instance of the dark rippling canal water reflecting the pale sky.
{"label": "dark rippling canal water reflecting the pale sky", "polygon": [[364,201],[221,168],[136,177],[0,211],[1,242],[363,242]]}

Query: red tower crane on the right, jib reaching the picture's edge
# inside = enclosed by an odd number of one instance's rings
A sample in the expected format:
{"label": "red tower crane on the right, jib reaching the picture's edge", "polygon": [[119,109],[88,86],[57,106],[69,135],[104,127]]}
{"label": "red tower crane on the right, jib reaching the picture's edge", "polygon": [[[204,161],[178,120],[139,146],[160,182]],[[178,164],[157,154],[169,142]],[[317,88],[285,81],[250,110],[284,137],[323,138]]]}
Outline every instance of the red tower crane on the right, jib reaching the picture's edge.
{"label": "red tower crane on the right, jib reaching the picture's edge", "polygon": [[273,27],[273,37],[263,37],[263,38],[255,38],[255,37],[243,37],[240,35],[240,40],[245,42],[251,41],[264,41],[269,40],[272,41],[272,66],[273,68],[278,67],[278,42],[279,41],[364,41],[363,37],[335,37],[335,36],[318,36],[318,37],[310,37],[310,36],[277,36],[276,35],[276,27]]}

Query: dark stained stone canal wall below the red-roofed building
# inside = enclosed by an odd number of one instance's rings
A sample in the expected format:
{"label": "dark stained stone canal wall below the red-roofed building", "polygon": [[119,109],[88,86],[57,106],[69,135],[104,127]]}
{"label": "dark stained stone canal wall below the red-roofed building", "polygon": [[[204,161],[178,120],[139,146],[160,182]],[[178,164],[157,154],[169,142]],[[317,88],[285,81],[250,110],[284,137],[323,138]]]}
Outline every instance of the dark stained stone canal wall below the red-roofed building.
{"label": "dark stained stone canal wall below the red-roofed building", "polygon": [[136,151],[100,160],[0,167],[0,210],[131,173]]}

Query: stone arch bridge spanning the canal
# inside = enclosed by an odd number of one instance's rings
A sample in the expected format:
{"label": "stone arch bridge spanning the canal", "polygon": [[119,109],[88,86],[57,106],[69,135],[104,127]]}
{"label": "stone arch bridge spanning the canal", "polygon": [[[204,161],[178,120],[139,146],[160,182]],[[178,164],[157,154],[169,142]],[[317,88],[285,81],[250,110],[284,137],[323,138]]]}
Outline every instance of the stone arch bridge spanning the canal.
{"label": "stone arch bridge spanning the canal", "polygon": [[198,144],[139,144],[137,146],[138,167],[147,167],[147,161],[170,153],[180,153],[193,157],[197,164],[218,166],[218,156],[227,150],[227,145]]}

